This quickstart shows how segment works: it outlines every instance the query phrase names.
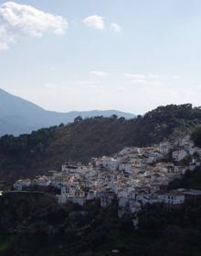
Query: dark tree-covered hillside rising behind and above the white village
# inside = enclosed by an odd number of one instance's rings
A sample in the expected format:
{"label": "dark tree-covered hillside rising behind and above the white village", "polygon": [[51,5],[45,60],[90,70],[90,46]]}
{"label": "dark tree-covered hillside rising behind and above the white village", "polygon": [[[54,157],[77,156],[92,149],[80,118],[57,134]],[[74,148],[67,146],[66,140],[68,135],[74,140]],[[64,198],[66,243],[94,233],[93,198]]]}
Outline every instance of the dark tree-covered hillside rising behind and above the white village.
{"label": "dark tree-covered hillside rising behind and above the white village", "polygon": [[0,177],[15,180],[60,168],[64,161],[89,161],[126,146],[148,146],[201,124],[201,109],[159,106],[144,117],[91,117],[67,126],[43,128],[30,135],[0,139]]}

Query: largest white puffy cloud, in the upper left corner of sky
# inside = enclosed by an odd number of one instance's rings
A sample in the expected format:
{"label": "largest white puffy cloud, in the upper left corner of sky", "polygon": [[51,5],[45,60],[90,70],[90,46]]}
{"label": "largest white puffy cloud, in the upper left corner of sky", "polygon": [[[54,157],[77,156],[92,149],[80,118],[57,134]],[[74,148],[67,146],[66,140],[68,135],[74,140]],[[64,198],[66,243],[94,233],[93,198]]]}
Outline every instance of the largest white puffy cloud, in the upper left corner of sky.
{"label": "largest white puffy cloud, in the upper left corner of sky", "polygon": [[22,37],[42,37],[45,33],[63,35],[68,28],[65,18],[32,6],[6,2],[0,6],[0,50]]}

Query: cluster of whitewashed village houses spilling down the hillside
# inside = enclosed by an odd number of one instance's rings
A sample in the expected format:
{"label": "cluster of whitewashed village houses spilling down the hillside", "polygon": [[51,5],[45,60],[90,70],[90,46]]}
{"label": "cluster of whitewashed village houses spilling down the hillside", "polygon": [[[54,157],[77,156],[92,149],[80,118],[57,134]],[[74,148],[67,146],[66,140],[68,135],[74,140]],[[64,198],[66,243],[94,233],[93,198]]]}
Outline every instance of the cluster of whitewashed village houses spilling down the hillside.
{"label": "cluster of whitewashed village houses spilling down the hillside", "polygon": [[58,191],[58,204],[73,202],[80,206],[96,198],[100,206],[118,202],[118,216],[132,215],[137,225],[137,213],[149,203],[180,206],[186,196],[201,195],[201,191],[178,189],[165,192],[167,185],[182,177],[187,170],[200,166],[201,149],[189,136],[176,142],[164,141],[153,147],[125,148],[112,157],[92,158],[90,163],[64,163],[61,171],[49,171],[35,179],[18,180],[17,191],[31,187],[53,187]]}

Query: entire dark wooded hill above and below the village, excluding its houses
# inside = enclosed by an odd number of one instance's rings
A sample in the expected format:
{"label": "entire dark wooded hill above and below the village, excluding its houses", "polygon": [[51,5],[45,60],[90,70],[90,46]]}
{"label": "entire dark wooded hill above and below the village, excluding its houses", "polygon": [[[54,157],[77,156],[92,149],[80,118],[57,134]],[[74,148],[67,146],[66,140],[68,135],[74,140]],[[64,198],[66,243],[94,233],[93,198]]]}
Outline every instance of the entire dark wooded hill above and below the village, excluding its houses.
{"label": "entire dark wooded hill above and below the village, excluding its houses", "polygon": [[[91,156],[112,154],[124,146],[152,145],[186,133],[200,147],[200,124],[201,109],[186,104],[160,106],[129,120],[77,118],[69,125],[42,128],[17,138],[6,135],[0,138],[0,178],[12,181],[35,176],[69,159],[89,161]],[[170,186],[200,189],[201,168]],[[133,215],[118,217],[116,200],[107,207],[100,207],[98,200],[86,206],[59,206],[48,193],[5,193],[0,196],[0,255],[198,256],[201,201],[199,196],[192,199],[174,210],[146,204],[138,213],[139,228],[134,229]]]}

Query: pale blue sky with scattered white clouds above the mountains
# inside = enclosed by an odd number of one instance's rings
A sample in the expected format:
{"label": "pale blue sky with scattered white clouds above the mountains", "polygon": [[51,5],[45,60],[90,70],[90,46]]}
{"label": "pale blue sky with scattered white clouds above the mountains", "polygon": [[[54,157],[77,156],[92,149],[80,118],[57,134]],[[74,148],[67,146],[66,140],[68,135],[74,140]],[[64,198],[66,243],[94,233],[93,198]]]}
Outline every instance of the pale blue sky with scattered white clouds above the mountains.
{"label": "pale blue sky with scattered white clouds above the mountains", "polygon": [[48,110],[201,98],[200,0],[0,0],[0,81]]}

